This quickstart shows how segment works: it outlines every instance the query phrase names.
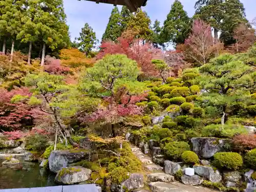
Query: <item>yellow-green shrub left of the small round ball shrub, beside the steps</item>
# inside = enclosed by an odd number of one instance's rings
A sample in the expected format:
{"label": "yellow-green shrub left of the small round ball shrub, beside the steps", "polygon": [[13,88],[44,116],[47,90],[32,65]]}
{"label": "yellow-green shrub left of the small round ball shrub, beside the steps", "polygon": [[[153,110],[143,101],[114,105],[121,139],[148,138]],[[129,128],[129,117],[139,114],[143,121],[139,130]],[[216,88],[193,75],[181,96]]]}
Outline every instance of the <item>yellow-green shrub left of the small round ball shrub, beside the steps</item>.
{"label": "yellow-green shrub left of the small round ball shrub, beside the steps", "polygon": [[190,150],[190,146],[184,141],[180,141],[180,142],[175,141],[175,142],[166,143],[163,150],[164,150],[164,154],[168,158],[179,160],[181,159],[181,155],[183,152]]}

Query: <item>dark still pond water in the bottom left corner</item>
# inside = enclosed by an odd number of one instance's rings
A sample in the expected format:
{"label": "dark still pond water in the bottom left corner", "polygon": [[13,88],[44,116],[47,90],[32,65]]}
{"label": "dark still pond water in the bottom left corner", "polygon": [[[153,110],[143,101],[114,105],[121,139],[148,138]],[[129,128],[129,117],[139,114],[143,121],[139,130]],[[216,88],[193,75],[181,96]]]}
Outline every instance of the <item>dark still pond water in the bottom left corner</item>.
{"label": "dark still pond water in the bottom left corner", "polygon": [[39,168],[38,163],[20,161],[13,168],[2,164],[0,159],[0,189],[55,186],[55,175]]}

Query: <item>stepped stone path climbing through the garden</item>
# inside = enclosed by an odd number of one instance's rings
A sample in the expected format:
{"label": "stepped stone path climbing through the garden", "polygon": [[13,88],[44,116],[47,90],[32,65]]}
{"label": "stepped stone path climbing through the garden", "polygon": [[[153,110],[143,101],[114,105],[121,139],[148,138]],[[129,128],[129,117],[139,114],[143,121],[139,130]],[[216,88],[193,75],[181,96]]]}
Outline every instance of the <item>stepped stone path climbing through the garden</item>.
{"label": "stepped stone path climbing through the garden", "polygon": [[[163,173],[163,167],[153,163],[151,157],[143,154],[139,147],[131,145],[132,152],[140,159],[148,171],[147,180],[152,192],[216,192],[202,186],[184,185],[174,180],[174,176]],[[138,190],[147,192],[147,190]]]}

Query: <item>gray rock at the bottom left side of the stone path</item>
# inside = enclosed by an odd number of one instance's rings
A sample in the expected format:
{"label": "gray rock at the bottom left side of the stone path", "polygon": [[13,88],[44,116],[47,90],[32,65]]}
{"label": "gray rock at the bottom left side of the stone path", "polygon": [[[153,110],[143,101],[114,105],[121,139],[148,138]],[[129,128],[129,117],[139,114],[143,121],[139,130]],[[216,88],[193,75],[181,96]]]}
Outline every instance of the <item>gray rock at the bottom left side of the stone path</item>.
{"label": "gray rock at the bottom left side of the stone path", "polygon": [[144,177],[142,174],[131,174],[130,178],[121,183],[120,192],[130,191],[144,187]]}

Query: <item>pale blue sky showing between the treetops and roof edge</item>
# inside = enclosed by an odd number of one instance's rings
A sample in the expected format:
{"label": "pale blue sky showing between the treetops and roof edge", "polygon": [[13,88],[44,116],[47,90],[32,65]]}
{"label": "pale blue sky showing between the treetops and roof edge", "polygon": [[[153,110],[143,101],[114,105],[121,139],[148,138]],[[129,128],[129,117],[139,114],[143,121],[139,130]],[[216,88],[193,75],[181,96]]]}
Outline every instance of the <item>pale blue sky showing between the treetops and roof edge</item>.
{"label": "pale blue sky showing between the treetops and roof edge", "polygon": [[[256,1],[240,1],[244,4],[247,19],[252,20],[256,17]],[[148,0],[146,7],[142,9],[147,12],[152,22],[158,19],[163,24],[173,2],[174,0]],[[180,0],[180,2],[184,6],[184,10],[187,11],[188,16],[193,16],[196,0]],[[64,7],[72,40],[79,36],[79,32],[85,23],[89,23],[96,32],[97,38],[101,39],[113,9],[112,5],[96,4],[83,0],[64,0]],[[121,7],[119,7],[119,10],[121,10]]]}

